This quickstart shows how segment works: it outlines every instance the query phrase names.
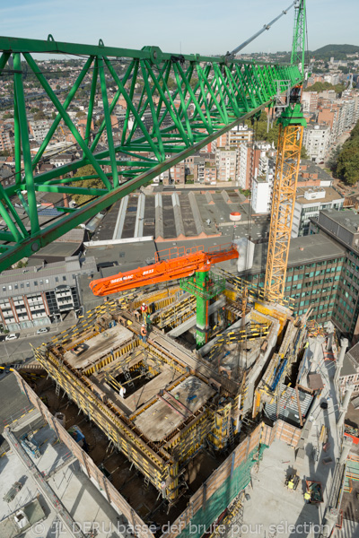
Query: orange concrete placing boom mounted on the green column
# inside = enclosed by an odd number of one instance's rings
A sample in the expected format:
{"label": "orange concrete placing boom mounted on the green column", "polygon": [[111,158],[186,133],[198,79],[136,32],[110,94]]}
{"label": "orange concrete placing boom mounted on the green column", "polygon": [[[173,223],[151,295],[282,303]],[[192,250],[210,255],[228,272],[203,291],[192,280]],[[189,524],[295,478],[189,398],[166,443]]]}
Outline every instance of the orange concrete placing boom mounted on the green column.
{"label": "orange concrete placing boom mounted on the green column", "polygon": [[[167,259],[163,259],[166,256]],[[238,258],[238,250],[232,244],[212,247],[208,252],[204,251],[204,247],[170,248],[156,253],[153,265],[94,280],[90,282],[90,288],[94,295],[109,295],[157,282],[177,280],[196,272],[207,273],[211,265],[233,258]]]}

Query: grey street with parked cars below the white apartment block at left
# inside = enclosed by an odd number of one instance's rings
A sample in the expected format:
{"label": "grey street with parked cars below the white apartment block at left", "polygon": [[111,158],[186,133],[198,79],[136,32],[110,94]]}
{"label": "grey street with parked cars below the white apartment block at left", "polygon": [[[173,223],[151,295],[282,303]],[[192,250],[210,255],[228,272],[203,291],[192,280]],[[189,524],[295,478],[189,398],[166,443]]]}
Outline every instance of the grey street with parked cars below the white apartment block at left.
{"label": "grey street with parked cars below the white apartment block at left", "polygon": [[0,364],[13,364],[14,362],[33,359],[31,345],[39,347],[41,343],[51,340],[54,334],[61,333],[61,331],[68,329],[75,323],[76,320],[71,317],[57,325],[51,325],[48,333],[36,334],[36,330],[31,329],[26,334],[22,333],[17,340],[0,342]]}

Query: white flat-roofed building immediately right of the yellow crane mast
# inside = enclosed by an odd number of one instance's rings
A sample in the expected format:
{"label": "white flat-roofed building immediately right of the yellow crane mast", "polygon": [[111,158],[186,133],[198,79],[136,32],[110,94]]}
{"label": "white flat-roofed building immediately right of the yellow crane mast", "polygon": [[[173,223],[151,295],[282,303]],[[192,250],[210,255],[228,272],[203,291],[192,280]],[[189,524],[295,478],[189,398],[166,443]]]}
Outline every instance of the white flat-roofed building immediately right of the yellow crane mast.
{"label": "white flat-roofed building immediately right of the yellow crane mast", "polygon": [[333,187],[299,187],[296,192],[292,237],[308,235],[312,218],[325,209],[341,209],[344,198]]}

